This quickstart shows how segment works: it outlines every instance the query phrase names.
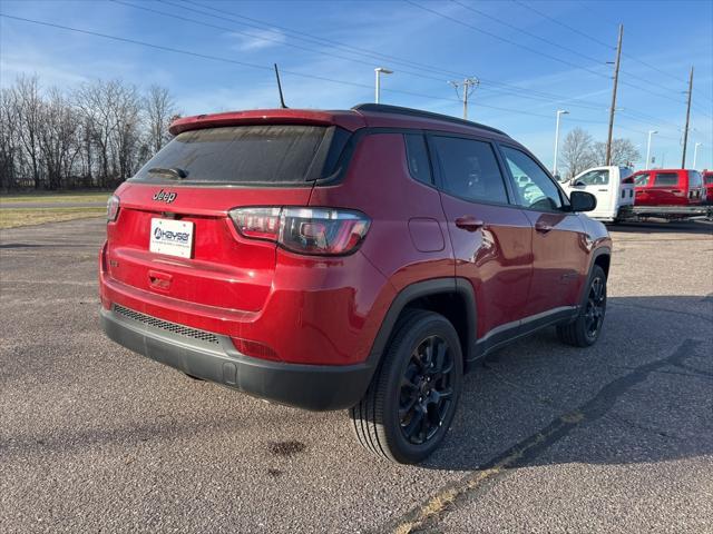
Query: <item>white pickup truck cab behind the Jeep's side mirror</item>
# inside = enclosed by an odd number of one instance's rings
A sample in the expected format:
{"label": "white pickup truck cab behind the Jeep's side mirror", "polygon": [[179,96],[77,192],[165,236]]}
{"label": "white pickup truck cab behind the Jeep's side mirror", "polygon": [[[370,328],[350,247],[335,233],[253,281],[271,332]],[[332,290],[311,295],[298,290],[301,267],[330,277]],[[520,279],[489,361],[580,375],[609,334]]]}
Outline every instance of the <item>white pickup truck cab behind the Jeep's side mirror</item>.
{"label": "white pickup truck cab behind the Jeep's side mirror", "polygon": [[587,214],[593,219],[616,222],[631,216],[634,206],[634,171],[628,167],[595,167],[565,181],[567,195],[586,191],[597,199],[597,207]]}

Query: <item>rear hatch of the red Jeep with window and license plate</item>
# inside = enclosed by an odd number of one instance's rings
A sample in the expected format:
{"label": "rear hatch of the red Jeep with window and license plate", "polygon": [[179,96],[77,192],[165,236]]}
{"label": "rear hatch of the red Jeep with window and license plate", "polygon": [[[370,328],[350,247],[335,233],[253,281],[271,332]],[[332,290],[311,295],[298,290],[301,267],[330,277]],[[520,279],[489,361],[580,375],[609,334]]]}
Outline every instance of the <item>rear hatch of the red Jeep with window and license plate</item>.
{"label": "rear hatch of the red Jeep with window and license plate", "polygon": [[315,180],[334,172],[350,132],[326,119],[246,121],[183,119],[177,137],[117,190],[109,280],[149,301],[189,303],[216,316],[263,307],[276,245],[243,238],[228,212],[306,206]]}

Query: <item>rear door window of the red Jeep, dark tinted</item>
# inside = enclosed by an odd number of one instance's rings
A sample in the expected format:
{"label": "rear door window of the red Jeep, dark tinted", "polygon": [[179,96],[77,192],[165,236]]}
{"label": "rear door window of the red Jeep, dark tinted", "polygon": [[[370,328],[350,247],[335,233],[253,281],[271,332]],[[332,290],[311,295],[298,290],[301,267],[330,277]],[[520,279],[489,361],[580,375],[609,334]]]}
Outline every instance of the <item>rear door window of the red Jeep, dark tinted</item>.
{"label": "rear door window of the red Jeep, dark tinted", "polygon": [[433,146],[446,192],[476,202],[508,202],[500,167],[489,142],[437,136]]}

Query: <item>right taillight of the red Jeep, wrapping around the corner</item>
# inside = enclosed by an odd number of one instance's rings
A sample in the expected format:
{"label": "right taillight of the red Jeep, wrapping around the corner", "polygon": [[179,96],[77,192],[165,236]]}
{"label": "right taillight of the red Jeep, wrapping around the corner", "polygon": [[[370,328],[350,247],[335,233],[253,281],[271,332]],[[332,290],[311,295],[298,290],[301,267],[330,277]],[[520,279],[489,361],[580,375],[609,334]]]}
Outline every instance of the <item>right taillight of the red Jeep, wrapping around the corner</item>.
{"label": "right taillight of the red Jeep, wrapping around the corner", "polygon": [[344,255],[367,236],[370,219],[360,211],[331,208],[236,208],[235,228],[252,239],[268,239],[293,253]]}

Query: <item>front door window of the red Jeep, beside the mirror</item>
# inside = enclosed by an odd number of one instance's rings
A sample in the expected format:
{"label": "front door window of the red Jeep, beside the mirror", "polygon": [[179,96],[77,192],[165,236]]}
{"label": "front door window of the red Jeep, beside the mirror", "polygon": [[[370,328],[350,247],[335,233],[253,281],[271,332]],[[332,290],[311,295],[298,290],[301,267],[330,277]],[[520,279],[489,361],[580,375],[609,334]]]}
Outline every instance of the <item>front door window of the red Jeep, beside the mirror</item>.
{"label": "front door window of the red Jeep, beside the mirror", "polygon": [[561,197],[555,182],[527,154],[502,147],[502,155],[515,178],[515,190],[520,205],[529,209],[561,209]]}

